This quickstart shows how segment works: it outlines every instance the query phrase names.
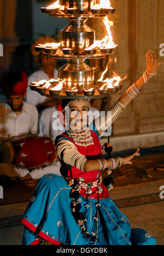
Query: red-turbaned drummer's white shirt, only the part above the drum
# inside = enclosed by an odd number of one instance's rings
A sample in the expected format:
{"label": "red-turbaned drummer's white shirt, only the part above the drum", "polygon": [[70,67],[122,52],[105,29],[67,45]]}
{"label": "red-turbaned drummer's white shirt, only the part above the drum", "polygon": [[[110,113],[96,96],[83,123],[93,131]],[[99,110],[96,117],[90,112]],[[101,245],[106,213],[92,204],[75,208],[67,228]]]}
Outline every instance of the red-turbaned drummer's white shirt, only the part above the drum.
{"label": "red-turbaned drummer's white shirt, only the part above the drum", "polygon": [[19,136],[38,130],[38,110],[23,102],[22,110],[16,114],[8,103],[0,104],[0,137]]}

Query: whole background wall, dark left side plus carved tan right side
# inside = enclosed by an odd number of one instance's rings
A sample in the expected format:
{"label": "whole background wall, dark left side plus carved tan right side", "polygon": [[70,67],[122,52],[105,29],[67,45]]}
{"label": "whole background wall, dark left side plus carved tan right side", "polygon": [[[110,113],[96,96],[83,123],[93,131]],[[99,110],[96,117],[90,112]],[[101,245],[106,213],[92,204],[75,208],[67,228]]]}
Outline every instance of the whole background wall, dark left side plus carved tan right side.
{"label": "whole background wall, dark left side plus carved tan right side", "polygon": [[[145,71],[145,52],[154,50],[159,61],[160,44],[164,43],[164,1],[163,0],[110,0],[116,8],[110,19],[114,21],[112,34],[118,43],[113,62],[109,65],[108,75],[114,70],[121,77],[128,75],[122,82],[123,89],[106,101],[102,109],[108,109],[118,100],[128,86]],[[66,19],[51,18],[42,14],[40,7],[54,1],[38,0],[1,0],[0,1],[0,43],[4,45],[4,57],[0,57],[0,75],[7,69],[22,69],[31,74],[36,66],[30,53],[31,43],[39,34],[52,36],[56,28],[67,25]],[[47,4],[46,4],[47,3]],[[101,39],[104,27],[101,19],[89,19],[87,24],[96,31]],[[114,62],[115,57],[117,62]],[[98,66],[96,77],[105,69],[108,58],[90,62]],[[153,147],[164,143],[164,67],[156,77],[144,86],[142,95],[136,98],[113,125],[115,150],[139,147]],[[97,101],[97,104],[99,102]],[[128,136],[128,137],[127,137]]]}

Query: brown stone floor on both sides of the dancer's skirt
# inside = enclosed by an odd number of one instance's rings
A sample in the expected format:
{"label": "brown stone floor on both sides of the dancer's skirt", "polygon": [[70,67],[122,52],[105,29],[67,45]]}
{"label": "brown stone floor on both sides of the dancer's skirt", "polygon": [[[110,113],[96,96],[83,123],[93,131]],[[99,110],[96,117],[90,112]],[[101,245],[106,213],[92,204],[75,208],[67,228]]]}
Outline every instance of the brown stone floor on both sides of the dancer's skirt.
{"label": "brown stone floor on both sides of the dancer's skirt", "polygon": [[[131,222],[132,228],[143,228],[164,245],[164,199],[160,199],[163,181],[118,187],[110,192],[112,199]],[[0,206],[0,245],[21,245],[24,227],[20,224],[28,202]]]}

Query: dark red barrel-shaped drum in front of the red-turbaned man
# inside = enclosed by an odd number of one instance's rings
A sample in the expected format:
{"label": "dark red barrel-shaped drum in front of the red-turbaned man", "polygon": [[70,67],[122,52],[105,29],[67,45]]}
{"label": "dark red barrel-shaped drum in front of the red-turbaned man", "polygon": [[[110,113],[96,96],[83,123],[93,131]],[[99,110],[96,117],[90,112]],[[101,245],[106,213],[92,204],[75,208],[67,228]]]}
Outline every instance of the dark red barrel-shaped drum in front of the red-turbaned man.
{"label": "dark red barrel-shaped drum in front of the red-turbaned man", "polygon": [[0,162],[19,168],[47,166],[54,162],[55,156],[55,144],[49,136],[25,135],[0,144]]}

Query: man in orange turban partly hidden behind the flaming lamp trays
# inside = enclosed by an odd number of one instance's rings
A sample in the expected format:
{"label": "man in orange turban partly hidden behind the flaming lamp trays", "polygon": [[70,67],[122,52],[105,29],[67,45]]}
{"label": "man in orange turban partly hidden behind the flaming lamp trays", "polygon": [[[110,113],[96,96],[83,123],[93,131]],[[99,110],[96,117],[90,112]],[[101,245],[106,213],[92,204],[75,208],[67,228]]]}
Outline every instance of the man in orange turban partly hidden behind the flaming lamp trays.
{"label": "man in orange turban partly hidden behind the flaming lamp trays", "polygon": [[26,101],[35,105],[38,108],[38,112],[45,108],[53,107],[56,102],[53,98],[44,97],[38,94],[38,92],[32,91],[30,89],[30,84],[32,82],[38,82],[44,79],[50,80],[51,78],[58,78],[58,71],[55,69],[57,62],[56,59],[44,56],[42,53],[38,53],[35,50],[36,45],[46,43],[56,43],[56,40],[51,37],[39,37],[31,46],[31,53],[35,57],[37,65],[40,67],[40,69],[28,77]]}

